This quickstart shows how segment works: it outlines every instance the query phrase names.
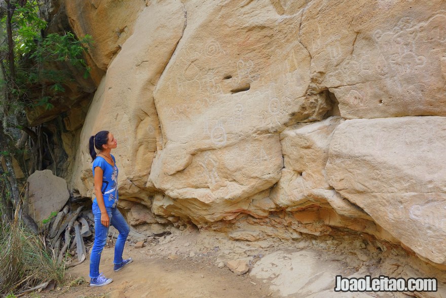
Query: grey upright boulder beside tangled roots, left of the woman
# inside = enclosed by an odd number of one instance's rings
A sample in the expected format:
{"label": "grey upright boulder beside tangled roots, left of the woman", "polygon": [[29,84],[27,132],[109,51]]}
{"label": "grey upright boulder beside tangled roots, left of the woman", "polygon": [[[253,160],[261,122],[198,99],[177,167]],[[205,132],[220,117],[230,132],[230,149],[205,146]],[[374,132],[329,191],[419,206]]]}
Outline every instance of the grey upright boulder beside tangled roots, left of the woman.
{"label": "grey upright boulder beside tangled roots, left of the woman", "polygon": [[59,212],[69,198],[66,181],[54,176],[51,170],[35,171],[28,177],[28,211],[35,222]]}

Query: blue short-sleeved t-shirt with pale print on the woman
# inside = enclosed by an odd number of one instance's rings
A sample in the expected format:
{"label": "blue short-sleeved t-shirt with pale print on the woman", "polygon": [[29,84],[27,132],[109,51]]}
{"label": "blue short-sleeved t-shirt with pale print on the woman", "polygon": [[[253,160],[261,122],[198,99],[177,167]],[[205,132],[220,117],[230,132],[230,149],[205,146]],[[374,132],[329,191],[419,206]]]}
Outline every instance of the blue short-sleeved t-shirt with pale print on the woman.
{"label": "blue short-sleeved t-shirt with pale print on the woman", "polygon": [[[103,171],[101,192],[105,207],[115,208],[118,203],[118,168],[116,167],[115,156],[112,155],[112,158],[115,165],[109,164],[102,156],[96,156],[93,161],[93,177],[94,168],[100,167]],[[93,203],[97,204],[96,197]]]}

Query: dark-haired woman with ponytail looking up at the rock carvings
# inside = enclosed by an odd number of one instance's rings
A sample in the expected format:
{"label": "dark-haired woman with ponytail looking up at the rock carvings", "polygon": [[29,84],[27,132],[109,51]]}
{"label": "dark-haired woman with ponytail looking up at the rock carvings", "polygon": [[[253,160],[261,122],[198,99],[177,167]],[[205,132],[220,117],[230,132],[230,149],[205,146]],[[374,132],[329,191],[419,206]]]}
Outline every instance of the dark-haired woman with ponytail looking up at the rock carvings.
{"label": "dark-haired woman with ponytail looking up at the rock carvings", "polygon": [[[108,226],[112,224],[119,231],[115,245],[114,271],[120,271],[124,266],[133,261],[132,258],[122,259],[124,245],[129,235],[130,228],[122,214],[116,208],[118,203],[118,168],[112,149],[118,142],[111,133],[106,130],[99,131],[90,137],[89,151],[93,159],[94,193],[93,215],[95,224],[94,244],[90,254],[90,286],[103,286],[113,281],[99,274],[99,262],[101,252],[105,246]],[[96,148],[99,153],[96,154]]]}

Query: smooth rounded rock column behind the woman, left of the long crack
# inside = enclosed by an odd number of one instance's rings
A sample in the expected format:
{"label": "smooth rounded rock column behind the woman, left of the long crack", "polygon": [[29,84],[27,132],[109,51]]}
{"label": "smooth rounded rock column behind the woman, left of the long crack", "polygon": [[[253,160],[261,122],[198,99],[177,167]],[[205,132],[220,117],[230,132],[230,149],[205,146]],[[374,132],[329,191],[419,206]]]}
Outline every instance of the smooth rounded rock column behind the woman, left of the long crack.
{"label": "smooth rounded rock column behind the woman, left of the long crack", "polygon": [[141,189],[147,182],[160,135],[151,94],[183,27],[184,11],[179,2],[151,5],[141,12],[133,35],[108,66],[88,111],[76,156],[74,172],[78,179],[73,188],[82,194],[93,194],[88,139],[99,130],[110,130],[119,142],[114,152],[120,169],[118,183],[126,185],[120,188],[120,195],[147,198]]}

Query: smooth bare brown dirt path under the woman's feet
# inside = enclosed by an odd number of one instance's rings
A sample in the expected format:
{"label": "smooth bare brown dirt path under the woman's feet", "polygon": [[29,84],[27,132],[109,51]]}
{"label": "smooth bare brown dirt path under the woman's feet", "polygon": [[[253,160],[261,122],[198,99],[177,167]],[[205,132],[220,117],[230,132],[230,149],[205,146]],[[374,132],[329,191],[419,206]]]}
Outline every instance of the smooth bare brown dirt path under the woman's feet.
{"label": "smooth bare brown dirt path under the woman's feet", "polygon": [[[100,270],[113,282],[103,287],[72,286],[41,293],[41,297],[269,297],[273,292],[263,282],[237,276],[218,268],[206,258],[150,254],[151,247],[127,246],[124,256],[134,261],[120,272],[113,271],[113,248],[105,248]],[[171,259],[172,258],[172,259]],[[72,279],[88,278],[89,261],[71,269]]]}

